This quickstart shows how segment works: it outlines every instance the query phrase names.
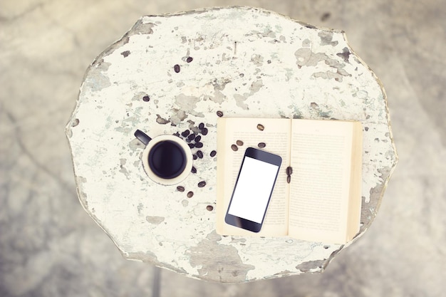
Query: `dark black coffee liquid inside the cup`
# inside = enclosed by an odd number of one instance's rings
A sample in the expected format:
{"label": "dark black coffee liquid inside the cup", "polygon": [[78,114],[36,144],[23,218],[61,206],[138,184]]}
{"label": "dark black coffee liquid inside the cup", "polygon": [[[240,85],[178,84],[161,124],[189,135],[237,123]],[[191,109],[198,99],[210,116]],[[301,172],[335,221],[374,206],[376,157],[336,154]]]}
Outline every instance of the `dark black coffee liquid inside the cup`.
{"label": "dark black coffee liquid inside the cup", "polygon": [[172,179],[186,167],[186,154],[177,143],[165,140],[158,142],[149,152],[150,169],[158,177]]}

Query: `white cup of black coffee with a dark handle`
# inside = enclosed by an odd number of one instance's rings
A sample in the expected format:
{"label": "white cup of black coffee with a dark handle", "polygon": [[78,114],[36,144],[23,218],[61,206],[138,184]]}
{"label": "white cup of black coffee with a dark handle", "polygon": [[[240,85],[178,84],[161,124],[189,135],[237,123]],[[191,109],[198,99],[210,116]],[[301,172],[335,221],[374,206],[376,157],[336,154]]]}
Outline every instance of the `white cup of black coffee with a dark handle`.
{"label": "white cup of black coffee with a dark handle", "polygon": [[159,184],[177,184],[192,169],[192,152],[186,142],[174,135],[160,135],[153,139],[141,130],[135,137],[145,145],[142,166],[146,174]]}

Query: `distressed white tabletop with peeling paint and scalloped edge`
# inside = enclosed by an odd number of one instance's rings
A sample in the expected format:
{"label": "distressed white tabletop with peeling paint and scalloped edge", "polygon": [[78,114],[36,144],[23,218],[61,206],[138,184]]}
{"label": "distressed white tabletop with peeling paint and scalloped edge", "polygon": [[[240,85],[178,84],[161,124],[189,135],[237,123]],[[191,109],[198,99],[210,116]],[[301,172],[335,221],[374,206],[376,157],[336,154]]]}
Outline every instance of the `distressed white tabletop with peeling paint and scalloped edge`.
{"label": "distressed white tabletop with peeling paint and scalloped edge", "polygon": [[[217,146],[217,111],[361,121],[356,239],[368,229],[398,162],[378,78],[342,31],[248,7],[143,16],[91,64],[66,127],[86,212],[127,259],[193,278],[244,282],[323,271],[348,244],[216,234],[218,152],[209,153]],[[204,157],[180,184],[185,192],[148,179],[133,132],[154,137],[199,123],[209,131]]]}

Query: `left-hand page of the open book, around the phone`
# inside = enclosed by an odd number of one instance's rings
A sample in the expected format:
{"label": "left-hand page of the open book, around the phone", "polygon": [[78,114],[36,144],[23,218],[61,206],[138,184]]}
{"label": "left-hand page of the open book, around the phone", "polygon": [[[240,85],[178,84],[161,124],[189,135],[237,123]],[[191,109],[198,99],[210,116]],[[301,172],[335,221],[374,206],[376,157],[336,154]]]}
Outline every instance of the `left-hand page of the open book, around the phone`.
{"label": "left-hand page of the open book, around the phone", "polygon": [[[264,130],[259,130],[257,124],[263,125]],[[289,164],[291,120],[219,118],[217,125],[217,233],[248,236],[286,235],[289,207],[286,166]],[[247,147],[259,148],[259,142],[264,142],[266,145],[261,150],[281,156],[282,165],[274,185],[264,224],[259,233],[254,233],[226,224],[224,216],[229,207],[244,152]],[[236,151],[232,149],[233,145],[237,147]]]}

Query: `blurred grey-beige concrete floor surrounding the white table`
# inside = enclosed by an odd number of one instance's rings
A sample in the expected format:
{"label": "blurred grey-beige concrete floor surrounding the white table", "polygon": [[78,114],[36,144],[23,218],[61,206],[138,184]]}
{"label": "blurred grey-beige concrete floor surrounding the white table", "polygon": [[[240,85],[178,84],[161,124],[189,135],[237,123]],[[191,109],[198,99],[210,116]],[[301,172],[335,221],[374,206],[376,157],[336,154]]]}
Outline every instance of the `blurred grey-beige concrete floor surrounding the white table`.
{"label": "blurred grey-beige concrete floor surrounding the white table", "polygon": [[[399,165],[322,274],[224,285],[125,261],[76,196],[64,126],[95,56],[142,15],[234,4],[343,29],[388,93]],[[445,19],[440,0],[1,1],[0,296],[442,296]]]}

